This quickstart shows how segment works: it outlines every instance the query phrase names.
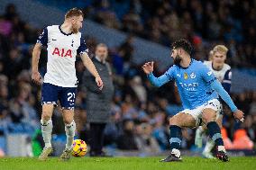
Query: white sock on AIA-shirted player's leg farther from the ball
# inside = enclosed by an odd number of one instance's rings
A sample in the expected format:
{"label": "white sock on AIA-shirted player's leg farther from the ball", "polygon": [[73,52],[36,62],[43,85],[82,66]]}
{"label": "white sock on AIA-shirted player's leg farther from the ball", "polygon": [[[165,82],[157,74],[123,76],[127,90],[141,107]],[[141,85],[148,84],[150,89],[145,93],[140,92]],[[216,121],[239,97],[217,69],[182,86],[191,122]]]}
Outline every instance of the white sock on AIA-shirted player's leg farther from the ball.
{"label": "white sock on AIA-shirted player's leg farther from the ball", "polygon": [[44,145],[46,148],[51,147],[51,132],[52,132],[52,121],[42,121],[41,120],[41,135],[44,141]]}

